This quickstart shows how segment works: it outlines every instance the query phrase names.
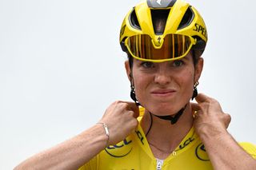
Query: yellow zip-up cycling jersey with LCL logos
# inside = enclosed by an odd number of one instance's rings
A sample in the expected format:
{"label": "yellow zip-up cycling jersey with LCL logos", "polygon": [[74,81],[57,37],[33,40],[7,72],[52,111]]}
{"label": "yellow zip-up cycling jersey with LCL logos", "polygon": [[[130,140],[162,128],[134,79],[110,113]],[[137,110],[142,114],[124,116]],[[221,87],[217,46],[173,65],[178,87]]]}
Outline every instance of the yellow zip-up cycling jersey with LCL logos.
{"label": "yellow zip-up cycling jersey with LCL logos", "polygon": [[[141,120],[144,109],[140,109]],[[122,130],[122,129],[120,129]],[[256,159],[256,146],[250,143],[240,143],[242,148]],[[182,170],[210,170],[213,169],[206,149],[195,133],[194,128],[184,137],[178,147],[163,163],[159,162],[151,152],[150,145],[142,127],[127,136],[120,143],[109,146],[79,170],[155,170],[155,169],[182,169]]]}

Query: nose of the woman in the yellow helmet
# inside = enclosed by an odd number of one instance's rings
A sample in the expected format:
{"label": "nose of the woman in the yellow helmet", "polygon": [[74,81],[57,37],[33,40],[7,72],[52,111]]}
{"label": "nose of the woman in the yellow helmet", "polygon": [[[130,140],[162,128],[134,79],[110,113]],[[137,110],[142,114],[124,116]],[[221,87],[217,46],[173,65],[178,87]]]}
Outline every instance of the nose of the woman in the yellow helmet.
{"label": "nose of the woman in the yellow helmet", "polygon": [[155,73],[154,82],[158,85],[168,85],[171,81],[170,73],[165,66],[160,66]]}

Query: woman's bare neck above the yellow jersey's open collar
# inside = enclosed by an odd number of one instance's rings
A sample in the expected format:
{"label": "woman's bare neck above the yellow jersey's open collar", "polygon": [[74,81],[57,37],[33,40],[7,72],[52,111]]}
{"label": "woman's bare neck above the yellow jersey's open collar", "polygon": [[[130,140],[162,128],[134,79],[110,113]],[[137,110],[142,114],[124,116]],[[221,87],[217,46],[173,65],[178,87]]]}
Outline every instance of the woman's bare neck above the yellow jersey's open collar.
{"label": "woman's bare neck above the yellow jersey's open collar", "polygon": [[[145,133],[148,132],[150,128],[150,122],[150,113],[146,110],[141,122],[143,131]],[[161,157],[166,158],[166,156],[169,156],[170,152],[174,151],[174,149],[190,131],[192,125],[193,117],[190,104],[186,106],[184,113],[174,125],[171,125],[170,121],[162,120],[152,115],[152,127],[150,128],[150,132],[148,132],[146,138],[150,144],[150,148],[154,153],[154,156],[160,159]],[[165,153],[159,155],[159,152],[161,151],[165,151]]]}

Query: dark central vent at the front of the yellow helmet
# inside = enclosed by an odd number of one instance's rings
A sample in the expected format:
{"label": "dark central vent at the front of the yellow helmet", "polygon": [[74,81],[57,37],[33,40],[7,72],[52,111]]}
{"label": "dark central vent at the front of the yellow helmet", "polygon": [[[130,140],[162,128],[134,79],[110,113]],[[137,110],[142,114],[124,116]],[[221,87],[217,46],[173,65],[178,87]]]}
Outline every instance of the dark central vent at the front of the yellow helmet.
{"label": "dark central vent at the front of the yellow helmet", "polygon": [[170,10],[151,10],[151,18],[154,26],[154,34],[163,34]]}

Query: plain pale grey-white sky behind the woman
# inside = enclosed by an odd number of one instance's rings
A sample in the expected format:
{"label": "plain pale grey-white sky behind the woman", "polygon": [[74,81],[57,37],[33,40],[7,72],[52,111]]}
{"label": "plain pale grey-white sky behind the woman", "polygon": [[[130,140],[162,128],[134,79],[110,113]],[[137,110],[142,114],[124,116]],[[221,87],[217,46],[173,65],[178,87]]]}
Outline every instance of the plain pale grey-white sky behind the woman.
{"label": "plain pale grey-white sky behind the woman", "polygon": [[[0,169],[94,125],[113,101],[130,101],[118,42],[139,0],[0,0]],[[230,133],[256,144],[252,0],[190,0],[209,42],[199,92],[230,113]]]}

